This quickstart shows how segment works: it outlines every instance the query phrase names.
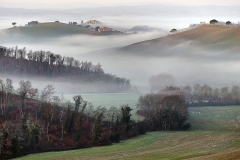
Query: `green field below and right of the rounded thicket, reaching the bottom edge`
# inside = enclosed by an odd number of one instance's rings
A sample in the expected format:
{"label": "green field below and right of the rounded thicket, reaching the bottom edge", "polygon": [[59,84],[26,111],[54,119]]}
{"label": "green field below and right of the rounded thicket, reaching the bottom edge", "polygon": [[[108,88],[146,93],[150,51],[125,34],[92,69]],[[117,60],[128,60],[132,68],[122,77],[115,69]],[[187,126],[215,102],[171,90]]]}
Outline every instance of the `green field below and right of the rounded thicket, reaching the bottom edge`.
{"label": "green field below and right of the rounded thicket, reaching the bottom edge", "polygon": [[[200,114],[199,114],[200,113]],[[19,159],[238,159],[240,106],[189,108],[190,131],[151,132],[111,146],[28,155]]]}

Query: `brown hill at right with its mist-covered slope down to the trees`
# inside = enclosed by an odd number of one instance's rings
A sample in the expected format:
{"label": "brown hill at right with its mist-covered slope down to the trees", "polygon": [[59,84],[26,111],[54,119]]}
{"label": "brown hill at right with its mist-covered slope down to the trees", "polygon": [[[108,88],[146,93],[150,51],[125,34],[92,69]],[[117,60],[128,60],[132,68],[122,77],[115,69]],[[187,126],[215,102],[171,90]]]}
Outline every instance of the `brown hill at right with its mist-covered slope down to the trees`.
{"label": "brown hill at right with its mist-covered slope down to the trees", "polygon": [[178,85],[239,84],[239,52],[240,27],[203,25],[79,58],[101,62],[108,72],[128,77],[142,89],[145,84],[147,89],[148,79],[159,73],[174,75]]}

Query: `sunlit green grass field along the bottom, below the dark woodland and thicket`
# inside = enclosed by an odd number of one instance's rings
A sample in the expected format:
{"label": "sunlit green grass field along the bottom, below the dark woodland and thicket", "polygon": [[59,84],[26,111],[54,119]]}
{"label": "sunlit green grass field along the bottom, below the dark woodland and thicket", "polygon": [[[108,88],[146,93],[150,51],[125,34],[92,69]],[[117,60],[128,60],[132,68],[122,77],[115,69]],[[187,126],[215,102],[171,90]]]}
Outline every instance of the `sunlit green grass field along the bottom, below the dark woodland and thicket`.
{"label": "sunlit green grass field along the bottom, below the dark woodland and thicket", "polygon": [[239,143],[239,133],[154,132],[111,146],[42,153],[20,159],[187,159],[200,156],[204,159],[231,148],[240,151]]}

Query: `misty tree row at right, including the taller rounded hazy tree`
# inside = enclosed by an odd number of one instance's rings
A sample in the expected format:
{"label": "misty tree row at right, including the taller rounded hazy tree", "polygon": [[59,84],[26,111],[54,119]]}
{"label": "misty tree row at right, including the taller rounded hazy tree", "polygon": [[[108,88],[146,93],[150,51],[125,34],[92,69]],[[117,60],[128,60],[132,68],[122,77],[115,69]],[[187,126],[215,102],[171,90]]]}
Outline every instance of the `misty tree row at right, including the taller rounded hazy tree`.
{"label": "misty tree row at right, including the taller rounded hazy tree", "polygon": [[149,79],[152,93],[183,95],[189,106],[240,105],[240,86],[211,87],[195,84],[176,87],[172,75],[162,73]]}

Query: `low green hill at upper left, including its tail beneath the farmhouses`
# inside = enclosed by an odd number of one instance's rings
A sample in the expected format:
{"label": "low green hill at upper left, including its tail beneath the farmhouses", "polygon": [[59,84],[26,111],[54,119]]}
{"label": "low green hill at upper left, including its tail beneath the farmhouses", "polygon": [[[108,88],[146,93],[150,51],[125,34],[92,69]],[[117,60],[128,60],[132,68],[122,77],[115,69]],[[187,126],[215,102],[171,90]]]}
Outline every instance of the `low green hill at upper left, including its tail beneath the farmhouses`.
{"label": "low green hill at upper left, including its tail beneath the farmhouses", "polygon": [[33,42],[46,39],[46,38],[58,38],[71,35],[126,35],[123,32],[111,31],[111,32],[96,32],[90,28],[77,25],[69,25],[61,22],[47,22],[39,23],[31,26],[16,26],[8,29],[0,30],[0,42]]}

